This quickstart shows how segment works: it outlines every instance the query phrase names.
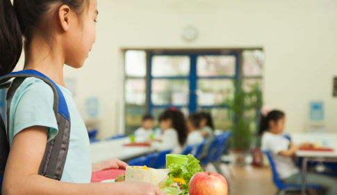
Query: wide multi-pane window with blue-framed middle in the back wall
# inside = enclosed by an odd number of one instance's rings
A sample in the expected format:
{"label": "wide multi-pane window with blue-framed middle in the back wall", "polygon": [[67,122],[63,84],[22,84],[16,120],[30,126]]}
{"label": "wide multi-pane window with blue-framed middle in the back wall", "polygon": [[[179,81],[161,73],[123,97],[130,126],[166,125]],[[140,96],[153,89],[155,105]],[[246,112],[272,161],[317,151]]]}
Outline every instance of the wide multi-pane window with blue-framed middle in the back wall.
{"label": "wide multi-pane window with blue-framed middle in the back wall", "polygon": [[186,115],[210,111],[215,128],[228,130],[232,118],[227,99],[233,97],[239,78],[247,91],[256,84],[261,88],[263,58],[261,49],[226,53],[126,50],[126,133],[140,126],[143,114],[157,118],[170,107]]}

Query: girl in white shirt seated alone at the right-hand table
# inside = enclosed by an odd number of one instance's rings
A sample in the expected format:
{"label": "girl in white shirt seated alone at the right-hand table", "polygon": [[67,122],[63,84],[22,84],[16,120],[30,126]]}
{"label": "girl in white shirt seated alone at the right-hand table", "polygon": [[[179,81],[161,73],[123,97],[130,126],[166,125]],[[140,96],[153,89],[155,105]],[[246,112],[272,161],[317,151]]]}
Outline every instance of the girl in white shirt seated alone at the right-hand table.
{"label": "girl in white shirt seated alone at the right-hand table", "polygon": [[[301,176],[299,169],[293,162],[296,150],[309,147],[309,143],[295,146],[283,137],[283,127],[286,116],[282,111],[273,110],[265,116],[261,116],[259,134],[262,135],[262,148],[268,150],[277,168],[281,180],[288,185],[300,185]],[[309,185],[320,185],[327,189],[327,195],[337,194],[336,180],[315,173],[308,173],[306,182]]]}

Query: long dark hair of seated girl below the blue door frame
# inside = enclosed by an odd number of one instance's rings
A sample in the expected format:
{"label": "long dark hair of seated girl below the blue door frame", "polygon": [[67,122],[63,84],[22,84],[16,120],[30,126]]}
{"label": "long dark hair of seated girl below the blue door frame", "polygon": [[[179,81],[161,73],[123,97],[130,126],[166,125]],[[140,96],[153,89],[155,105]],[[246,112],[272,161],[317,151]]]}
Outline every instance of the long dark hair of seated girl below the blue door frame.
{"label": "long dark hair of seated girl below the blue door frame", "polygon": [[176,130],[176,132],[178,133],[180,146],[183,146],[186,143],[188,133],[186,120],[183,116],[183,113],[179,110],[168,109],[164,111],[158,118],[159,122],[167,119],[172,120],[172,128],[174,128],[174,130]]}

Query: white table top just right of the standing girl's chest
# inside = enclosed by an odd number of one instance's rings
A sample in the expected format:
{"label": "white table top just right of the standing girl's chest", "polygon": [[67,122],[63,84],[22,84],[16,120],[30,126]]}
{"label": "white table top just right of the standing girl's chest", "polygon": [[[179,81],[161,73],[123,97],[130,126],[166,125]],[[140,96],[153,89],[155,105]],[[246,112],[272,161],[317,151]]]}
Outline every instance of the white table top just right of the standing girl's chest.
{"label": "white table top just right of the standing girl's chest", "polygon": [[91,162],[101,162],[110,158],[130,159],[154,152],[151,147],[143,146],[123,146],[125,143],[130,143],[129,138],[115,139],[109,141],[100,141],[90,144]]}

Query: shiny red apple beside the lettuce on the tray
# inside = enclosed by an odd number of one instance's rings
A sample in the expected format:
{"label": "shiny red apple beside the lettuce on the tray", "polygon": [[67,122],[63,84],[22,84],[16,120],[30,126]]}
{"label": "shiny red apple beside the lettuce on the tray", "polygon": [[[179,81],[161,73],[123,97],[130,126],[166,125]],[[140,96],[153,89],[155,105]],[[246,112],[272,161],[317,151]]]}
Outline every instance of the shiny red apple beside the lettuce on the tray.
{"label": "shiny red apple beside the lettuce on the tray", "polygon": [[190,180],[190,195],[227,195],[226,179],[216,173],[200,172]]}

